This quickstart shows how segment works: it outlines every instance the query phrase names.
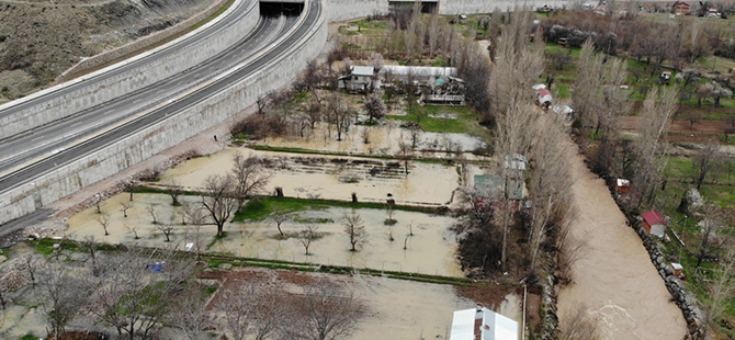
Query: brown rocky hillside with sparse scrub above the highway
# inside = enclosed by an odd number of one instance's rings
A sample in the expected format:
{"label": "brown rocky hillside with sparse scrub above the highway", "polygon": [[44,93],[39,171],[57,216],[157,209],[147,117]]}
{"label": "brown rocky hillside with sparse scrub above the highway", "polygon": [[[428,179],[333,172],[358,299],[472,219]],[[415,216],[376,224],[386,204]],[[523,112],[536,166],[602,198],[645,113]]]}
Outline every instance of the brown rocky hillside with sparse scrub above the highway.
{"label": "brown rocky hillside with sparse scrub above the highway", "polygon": [[84,57],[169,27],[213,0],[0,0],[0,103]]}

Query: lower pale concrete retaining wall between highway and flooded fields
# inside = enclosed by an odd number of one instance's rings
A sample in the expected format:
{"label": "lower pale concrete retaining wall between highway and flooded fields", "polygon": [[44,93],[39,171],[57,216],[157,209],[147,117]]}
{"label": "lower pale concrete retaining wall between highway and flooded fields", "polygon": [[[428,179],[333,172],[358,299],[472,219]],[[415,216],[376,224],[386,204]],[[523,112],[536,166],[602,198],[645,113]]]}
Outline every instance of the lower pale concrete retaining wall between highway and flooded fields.
{"label": "lower pale concrete retaining wall between highway and flooded fields", "polygon": [[171,118],[147,127],[118,143],[60,167],[32,183],[0,195],[0,224],[103,180],[166,148],[174,146],[252,105],[259,95],[291,82],[327,41],[326,13],[287,54],[227,90],[192,105]]}

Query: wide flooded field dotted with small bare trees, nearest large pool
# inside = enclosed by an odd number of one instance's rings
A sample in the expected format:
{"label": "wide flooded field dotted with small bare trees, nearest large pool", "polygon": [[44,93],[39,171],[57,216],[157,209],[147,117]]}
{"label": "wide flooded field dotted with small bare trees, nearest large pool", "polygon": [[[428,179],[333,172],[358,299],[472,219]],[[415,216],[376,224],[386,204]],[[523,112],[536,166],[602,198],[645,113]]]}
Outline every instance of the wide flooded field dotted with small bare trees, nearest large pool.
{"label": "wide flooded field dotted with small bare trees, nearest large pool", "polygon": [[[138,243],[157,247],[177,247],[183,249],[186,242],[194,242],[193,227],[181,225],[181,208],[171,206],[171,199],[162,194],[136,194],[135,206],[123,217],[121,202],[127,202],[127,194],[118,194],[104,202],[102,213],[109,216],[110,235],[98,223],[102,216],[95,207],[90,207],[71,218],[69,228],[64,233],[67,237],[82,240],[94,237],[98,241],[109,243]],[[184,201],[196,202],[197,197],[188,196]],[[152,224],[147,207],[154,204],[159,223],[176,224],[171,242],[165,242],[163,234]],[[349,208],[327,208],[320,211],[298,212],[285,222],[281,228],[285,234],[298,233],[306,224],[301,220],[316,222],[317,218],[329,223],[314,223],[323,236],[315,240],[306,256],[303,245],[296,238],[276,239],[279,235],[275,224],[270,220],[253,223],[228,223],[225,225],[227,237],[214,242],[208,251],[231,253],[270,260],[310,262],[318,264],[349,265],[386,271],[404,271],[446,276],[463,276],[456,260],[456,242],[454,233],[449,228],[455,223],[451,217],[428,215],[414,212],[396,211],[394,218],[398,220],[393,227],[384,225],[387,215],[383,209],[358,209],[364,220],[368,234],[366,242],[355,252],[349,251],[350,243],[343,231],[342,216]],[[409,228],[410,226],[410,228]],[[138,239],[135,239],[135,234]],[[210,243],[216,234],[215,226],[201,226],[200,239]],[[408,236],[412,230],[414,236]],[[394,240],[389,240],[393,233]],[[404,249],[404,241],[406,248]]]}

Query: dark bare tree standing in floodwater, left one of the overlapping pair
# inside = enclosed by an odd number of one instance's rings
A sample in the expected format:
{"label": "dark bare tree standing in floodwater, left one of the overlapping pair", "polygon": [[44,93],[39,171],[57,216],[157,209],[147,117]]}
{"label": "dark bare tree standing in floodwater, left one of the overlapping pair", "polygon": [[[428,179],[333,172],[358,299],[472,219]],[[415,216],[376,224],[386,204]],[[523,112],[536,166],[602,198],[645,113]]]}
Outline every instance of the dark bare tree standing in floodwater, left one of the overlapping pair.
{"label": "dark bare tree standing in floodwater, left one of the overlapping pair", "polygon": [[217,226],[217,237],[223,237],[223,229],[229,216],[237,208],[238,199],[233,197],[233,178],[229,175],[210,175],[204,181],[202,206]]}

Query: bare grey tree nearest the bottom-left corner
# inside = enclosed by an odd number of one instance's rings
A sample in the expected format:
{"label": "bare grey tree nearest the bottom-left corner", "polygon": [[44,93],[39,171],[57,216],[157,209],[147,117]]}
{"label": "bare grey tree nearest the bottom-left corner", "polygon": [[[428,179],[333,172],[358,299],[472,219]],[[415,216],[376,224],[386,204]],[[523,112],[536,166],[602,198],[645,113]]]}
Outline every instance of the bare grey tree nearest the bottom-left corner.
{"label": "bare grey tree nearest the bottom-left corner", "polygon": [[52,326],[52,333],[57,337],[83,310],[89,296],[88,286],[78,276],[81,270],[70,270],[68,263],[59,261],[45,261],[38,275],[43,308]]}

